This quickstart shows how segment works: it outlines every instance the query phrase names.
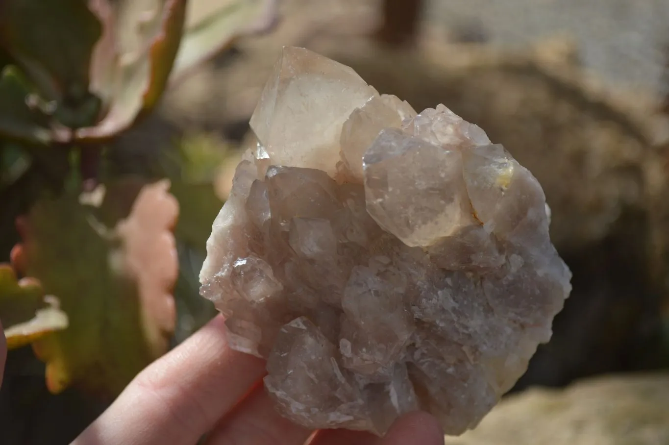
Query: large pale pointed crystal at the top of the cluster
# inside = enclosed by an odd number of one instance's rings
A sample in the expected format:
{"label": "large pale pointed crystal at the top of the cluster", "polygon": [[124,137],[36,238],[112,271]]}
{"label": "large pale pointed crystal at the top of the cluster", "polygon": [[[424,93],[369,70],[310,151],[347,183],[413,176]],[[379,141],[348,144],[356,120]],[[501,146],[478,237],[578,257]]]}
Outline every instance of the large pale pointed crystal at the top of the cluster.
{"label": "large pale pointed crystal at the top of the cluster", "polygon": [[334,173],[345,120],[377,96],[348,66],[303,48],[284,48],[251,126],[274,165]]}

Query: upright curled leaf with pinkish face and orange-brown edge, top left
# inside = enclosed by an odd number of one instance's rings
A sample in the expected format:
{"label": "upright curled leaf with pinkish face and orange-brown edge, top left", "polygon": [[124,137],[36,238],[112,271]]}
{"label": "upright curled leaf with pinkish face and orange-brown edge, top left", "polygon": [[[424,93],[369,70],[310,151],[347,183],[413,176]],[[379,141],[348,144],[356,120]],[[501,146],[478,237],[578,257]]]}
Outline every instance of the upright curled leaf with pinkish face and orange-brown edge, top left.
{"label": "upright curled leaf with pinkish face and orange-brown edge, top left", "polygon": [[108,139],[155,106],[173,66],[186,0],[89,0],[102,22],[93,51],[90,89],[102,98],[104,117],[80,128],[76,139]]}

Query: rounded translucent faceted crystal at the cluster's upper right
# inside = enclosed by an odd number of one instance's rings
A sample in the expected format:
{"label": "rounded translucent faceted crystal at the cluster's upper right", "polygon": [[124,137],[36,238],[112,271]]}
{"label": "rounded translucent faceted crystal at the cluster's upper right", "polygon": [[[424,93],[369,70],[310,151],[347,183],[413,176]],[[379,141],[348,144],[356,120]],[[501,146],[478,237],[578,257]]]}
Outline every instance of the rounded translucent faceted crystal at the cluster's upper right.
{"label": "rounded translucent faceted crystal at the cluster's upper right", "polygon": [[367,211],[407,246],[432,246],[473,224],[459,151],[387,128],[365,152],[363,166]]}

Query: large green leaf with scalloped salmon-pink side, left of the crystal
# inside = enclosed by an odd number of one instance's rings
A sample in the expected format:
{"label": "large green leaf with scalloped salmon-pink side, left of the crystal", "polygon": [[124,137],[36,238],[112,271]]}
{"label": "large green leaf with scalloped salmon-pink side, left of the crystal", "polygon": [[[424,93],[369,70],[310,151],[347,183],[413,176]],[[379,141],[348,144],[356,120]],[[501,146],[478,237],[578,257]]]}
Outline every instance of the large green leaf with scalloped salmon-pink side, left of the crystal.
{"label": "large green leaf with scalloped salmon-pink side, left of the crystal", "polygon": [[[65,195],[31,210],[27,268],[60,297],[70,317],[66,331],[33,343],[47,363],[53,393],[76,385],[116,395],[167,351],[177,268],[171,228],[178,212],[167,186],[147,185],[133,199],[107,185],[100,209]],[[127,217],[103,224],[96,215],[115,199],[122,201],[117,207],[127,206],[116,214]]]}

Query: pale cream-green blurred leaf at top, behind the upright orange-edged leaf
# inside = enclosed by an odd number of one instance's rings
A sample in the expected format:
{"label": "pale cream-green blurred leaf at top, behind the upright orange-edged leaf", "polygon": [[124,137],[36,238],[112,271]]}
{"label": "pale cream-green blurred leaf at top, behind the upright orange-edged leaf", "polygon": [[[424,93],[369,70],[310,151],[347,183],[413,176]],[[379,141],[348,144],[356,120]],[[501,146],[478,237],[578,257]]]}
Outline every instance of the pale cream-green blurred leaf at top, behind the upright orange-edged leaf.
{"label": "pale cream-green blurred leaf at top, behind the upright orange-edged leaf", "polygon": [[170,82],[215,56],[238,35],[263,31],[276,21],[277,0],[190,0]]}

